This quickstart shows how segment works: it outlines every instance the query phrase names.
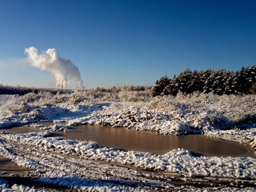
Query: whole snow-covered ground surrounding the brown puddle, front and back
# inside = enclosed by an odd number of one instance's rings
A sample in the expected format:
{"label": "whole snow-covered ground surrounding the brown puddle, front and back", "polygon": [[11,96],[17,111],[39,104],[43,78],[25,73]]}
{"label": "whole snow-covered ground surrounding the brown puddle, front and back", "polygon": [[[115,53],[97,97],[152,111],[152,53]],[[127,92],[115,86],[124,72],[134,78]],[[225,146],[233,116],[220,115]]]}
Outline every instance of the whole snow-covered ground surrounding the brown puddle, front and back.
{"label": "whole snow-covered ground surrounding the brown puddle, front and back", "polygon": [[[90,124],[159,134],[205,134],[250,145],[255,153],[256,95],[150,98],[145,92],[129,91],[41,92],[1,95],[0,106],[1,129],[41,122],[37,133],[0,130],[0,155],[27,170],[2,172],[2,191],[49,191],[52,186],[67,191],[256,191],[255,158],[195,157],[183,149],[155,155],[51,137],[52,131]],[[57,125],[45,127],[44,121]],[[22,183],[27,179],[34,186]],[[46,187],[37,187],[38,183]]]}

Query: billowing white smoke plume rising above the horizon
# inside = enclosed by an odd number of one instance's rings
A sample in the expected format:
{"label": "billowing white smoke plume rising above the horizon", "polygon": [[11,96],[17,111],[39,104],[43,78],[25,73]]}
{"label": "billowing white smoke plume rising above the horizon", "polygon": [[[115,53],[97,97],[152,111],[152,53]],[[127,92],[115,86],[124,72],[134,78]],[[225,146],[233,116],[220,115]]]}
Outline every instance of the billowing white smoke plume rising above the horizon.
{"label": "billowing white smoke plume rising above the horizon", "polygon": [[25,53],[33,67],[50,71],[55,76],[56,89],[67,89],[67,84],[71,89],[69,78],[76,81],[77,89],[84,90],[79,69],[70,60],[60,58],[57,50],[48,49],[38,54],[36,47],[31,46],[25,49]]}

